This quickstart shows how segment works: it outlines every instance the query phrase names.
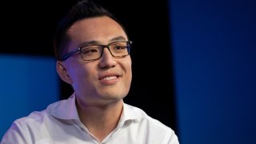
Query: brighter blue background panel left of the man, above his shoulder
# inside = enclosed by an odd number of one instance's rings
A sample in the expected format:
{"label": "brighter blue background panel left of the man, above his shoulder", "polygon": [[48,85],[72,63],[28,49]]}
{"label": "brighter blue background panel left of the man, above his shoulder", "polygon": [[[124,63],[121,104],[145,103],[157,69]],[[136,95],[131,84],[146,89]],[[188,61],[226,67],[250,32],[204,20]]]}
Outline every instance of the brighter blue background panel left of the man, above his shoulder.
{"label": "brighter blue background panel left of the man, above his shoulder", "polygon": [[59,99],[55,59],[0,55],[0,138],[16,118],[44,110]]}

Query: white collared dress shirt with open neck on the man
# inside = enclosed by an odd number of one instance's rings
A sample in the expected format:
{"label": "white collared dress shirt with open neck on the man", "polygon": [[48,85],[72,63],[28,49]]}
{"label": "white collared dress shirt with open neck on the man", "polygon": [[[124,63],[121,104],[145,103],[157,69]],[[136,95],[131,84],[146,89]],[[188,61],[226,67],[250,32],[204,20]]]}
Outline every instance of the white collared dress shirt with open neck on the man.
{"label": "white collared dress shirt with open neck on the man", "polygon": [[178,144],[174,130],[141,109],[123,104],[118,126],[99,142],[80,122],[74,94],[14,121],[1,144]]}

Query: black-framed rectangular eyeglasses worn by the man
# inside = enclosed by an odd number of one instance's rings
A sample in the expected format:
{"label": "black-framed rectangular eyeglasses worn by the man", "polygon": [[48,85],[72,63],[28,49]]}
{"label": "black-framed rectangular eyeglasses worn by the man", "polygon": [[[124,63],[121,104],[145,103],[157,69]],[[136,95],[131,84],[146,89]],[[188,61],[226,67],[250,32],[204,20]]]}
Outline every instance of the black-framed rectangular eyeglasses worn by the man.
{"label": "black-framed rectangular eyeglasses worn by the man", "polygon": [[94,61],[99,58],[102,58],[104,48],[110,50],[110,54],[114,58],[124,58],[130,54],[130,46],[132,42],[111,42],[107,45],[88,45],[82,46],[78,49],[72,50],[69,53],[65,54],[60,60],[65,61],[67,58],[70,58],[74,53],[80,51],[81,57],[85,61]]}

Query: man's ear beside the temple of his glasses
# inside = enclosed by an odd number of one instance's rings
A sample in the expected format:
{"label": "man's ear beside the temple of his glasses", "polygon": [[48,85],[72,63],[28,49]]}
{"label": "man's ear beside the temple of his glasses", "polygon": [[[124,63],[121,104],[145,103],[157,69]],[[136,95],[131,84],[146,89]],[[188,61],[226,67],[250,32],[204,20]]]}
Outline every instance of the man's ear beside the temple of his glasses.
{"label": "man's ear beside the temple of his glasses", "polygon": [[56,62],[56,69],[57,69],[59,77],[62,78],[62,81],[69,83],[71,85],[72,81],[71,81],[70,76],[67,73],[66,68],[62,62],[60,62],[60,61]]}

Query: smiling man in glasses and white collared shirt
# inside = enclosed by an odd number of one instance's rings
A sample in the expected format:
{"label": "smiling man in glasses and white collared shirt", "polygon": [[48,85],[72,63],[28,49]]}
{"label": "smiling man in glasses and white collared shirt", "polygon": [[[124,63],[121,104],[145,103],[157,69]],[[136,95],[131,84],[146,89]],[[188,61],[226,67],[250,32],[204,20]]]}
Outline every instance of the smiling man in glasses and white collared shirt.
{"label": "smiling man in glasses and white collared shirt", "polygon": [[16,120],[1,144],[178,144],[174,131],[123,102],[132,79],[130,42],[116,18],[78,2],[58,26],[58,75],[74,94]]}

